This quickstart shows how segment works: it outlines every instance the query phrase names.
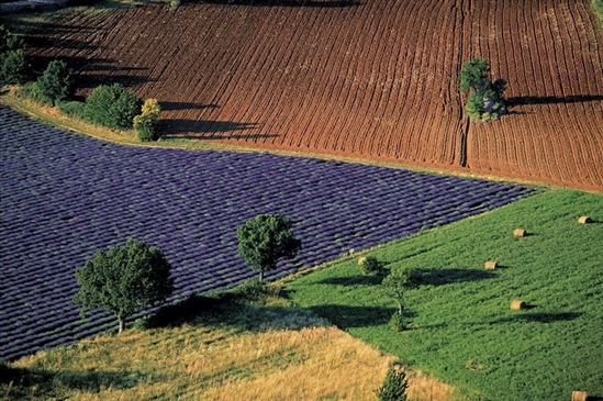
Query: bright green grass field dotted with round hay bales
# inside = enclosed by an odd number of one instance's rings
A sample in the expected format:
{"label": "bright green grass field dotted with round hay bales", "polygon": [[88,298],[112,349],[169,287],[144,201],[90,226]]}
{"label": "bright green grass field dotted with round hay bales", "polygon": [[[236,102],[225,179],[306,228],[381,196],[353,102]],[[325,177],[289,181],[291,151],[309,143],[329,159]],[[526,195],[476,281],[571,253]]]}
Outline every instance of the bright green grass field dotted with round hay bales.
{"label": "bright green grass field dotted with round hay bales", "polygon": [[[580,215],[595,219],[579,224]],[[531,234],[514,237],[524,227]],[[340,261],[288,285],[292,299],[381,349],[488,399],[567,400],[603,394],[603,197],[550,191],[371,252],[413,266],[413,327],[387,328],[394,311],[376,278]],[[503,268],[484,270],[485,260]],[[511,311],[512,299],[532,308]]]}

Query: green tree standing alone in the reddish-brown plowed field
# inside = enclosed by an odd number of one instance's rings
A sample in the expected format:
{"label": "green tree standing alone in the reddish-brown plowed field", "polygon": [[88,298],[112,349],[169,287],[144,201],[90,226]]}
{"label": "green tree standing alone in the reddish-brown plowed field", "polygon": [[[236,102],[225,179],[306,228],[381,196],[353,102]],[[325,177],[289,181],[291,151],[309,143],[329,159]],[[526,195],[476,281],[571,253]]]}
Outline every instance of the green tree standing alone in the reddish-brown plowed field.
{"label": "green tree standing alone in the reddish-brown plowed field", "polygon": [[491,121],[506,113],[503,92],[504,79],[490,80],[490,65],[483,58],[472,58],[465,63],[459,73],[459,89],[468,93],[465,111],[476,121]]}

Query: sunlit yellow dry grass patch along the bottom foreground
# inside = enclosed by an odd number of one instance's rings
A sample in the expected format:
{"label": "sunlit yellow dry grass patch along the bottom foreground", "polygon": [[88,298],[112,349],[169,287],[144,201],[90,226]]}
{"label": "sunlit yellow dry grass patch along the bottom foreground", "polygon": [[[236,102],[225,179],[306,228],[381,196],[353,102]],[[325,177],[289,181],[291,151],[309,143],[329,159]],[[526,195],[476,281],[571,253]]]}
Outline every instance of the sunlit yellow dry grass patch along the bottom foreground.
{"label": "sunlit yellow dry grass patch along the bottom foreground", "polygon": [[[254,333],[183,325],[99,336],[13,366],[52,374],[69,400],[362,401],[376,400],[394,359],[333,326]],[[409,378],[411,400],[451,397],[433,378]]]}

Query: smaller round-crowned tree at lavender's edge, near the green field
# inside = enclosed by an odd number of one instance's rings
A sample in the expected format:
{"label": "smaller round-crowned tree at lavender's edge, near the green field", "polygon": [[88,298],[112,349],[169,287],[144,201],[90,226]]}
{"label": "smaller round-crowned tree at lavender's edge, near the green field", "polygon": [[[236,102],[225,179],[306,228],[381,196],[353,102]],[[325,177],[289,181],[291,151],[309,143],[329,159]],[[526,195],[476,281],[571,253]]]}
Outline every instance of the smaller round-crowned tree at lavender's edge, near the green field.
{"label": "smaller round-crowned tree at lavender's edge, near the green field", "polygon": [[238,255],[254,271],[259,271],[260,282],[264,271],[276,269],[280,258],[292,259],[301,249],[292,225],[289,218],[280,214],[259,214],[236,230]]}

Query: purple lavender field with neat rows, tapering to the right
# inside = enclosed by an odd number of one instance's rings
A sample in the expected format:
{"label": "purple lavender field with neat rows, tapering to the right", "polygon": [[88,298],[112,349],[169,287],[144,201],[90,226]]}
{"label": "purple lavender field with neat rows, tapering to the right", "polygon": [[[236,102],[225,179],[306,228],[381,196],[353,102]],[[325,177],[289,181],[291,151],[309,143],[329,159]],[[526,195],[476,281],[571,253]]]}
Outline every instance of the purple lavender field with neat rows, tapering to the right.
{"label": "purple lavender field with neat rows, tapering to the right", "polygon": [[127,237],[164,252],[170,301],[255,278],[236,227],[294,222],[302,250],[276,278],[535,193],[529,187],[267,153],[125,147],[0,108],[0,358],[114,328],[71,301],[74,271]]}

